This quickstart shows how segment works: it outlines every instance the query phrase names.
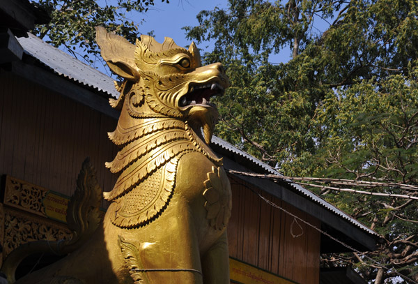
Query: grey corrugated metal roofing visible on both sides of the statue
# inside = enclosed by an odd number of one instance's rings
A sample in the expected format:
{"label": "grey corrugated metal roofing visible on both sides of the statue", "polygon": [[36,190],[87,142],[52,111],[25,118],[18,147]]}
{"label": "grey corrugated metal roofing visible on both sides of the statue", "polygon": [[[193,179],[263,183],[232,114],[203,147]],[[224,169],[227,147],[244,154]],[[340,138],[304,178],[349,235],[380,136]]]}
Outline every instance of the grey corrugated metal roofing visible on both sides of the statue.
{"label": "grey corrugated metal roofing visible on both sides of the statue", "polygon": [[[43,40],[33,36],[31,33],[29,33],[28,38],[17,38],[17,40],[19,40],[19,43],[24,48],[24,52],[26,54],[29,54],[32,57],[38,59],[40,62],[45,64],[45,66],[48,66],[54,70],[55,73],[63,77],[68,77],[70,80],[79,82],[85,86],[103,91],[104,93],[107,93],[109,96],[114,98],[118,98],[119,94],[114,87],[114,80],[101,73],[99,70],[88,66],[82,61],[75,59],[69,54],[66,54],[65,52],[57,49],[56,47],[45,43]],[[261,160],[250,156],[249,154],[245,153],[245,151],[238,149],[237,147],[220,139],[219,137],[213,136],[212,143],[222,147],[223,149],[226,149],[227,151],[231,151],[233,154],[238,154],[243,158],[246,158],[249,163],[258,165],[258,167],[263,168],[266,172],[281,175],[279,172],[277,172],[277,170],[274,170],[269,165],[261,162]],[[369,229],[369,227],[359,223],[359,221],[355,220],[355,218],[348,216],[348,214],[345,214],[343,211],[334,207],[332,204],[326,202],[314,193],[311,193],[311,191],[307,190],[306,188],[303,188],[298,184],[293,184],[291,181],[288,181],[288,183],[291,184],[291,186],[293,186],[293,188],[295,188],[295,190],[297,190],[299,193],[302,193],[302,195],[305,197],[308,197],[310,200],[327,208],[334,214],[341,216],[342,218],[368,232],[369,234],[379,236],[376,234],[376,232],[373,232],[373,230]]]}

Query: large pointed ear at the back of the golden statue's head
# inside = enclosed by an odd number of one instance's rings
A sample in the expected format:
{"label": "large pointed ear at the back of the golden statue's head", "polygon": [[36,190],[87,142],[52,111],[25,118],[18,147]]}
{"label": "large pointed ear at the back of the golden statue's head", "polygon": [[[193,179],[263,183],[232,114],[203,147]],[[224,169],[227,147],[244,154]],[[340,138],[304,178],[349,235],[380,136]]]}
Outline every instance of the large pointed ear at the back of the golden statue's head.
{"label": "large pointed ear at the back of the golden statue's head", "polygon": [[95,27],[95,30],[96,41],[109,68],[117,75],[137,82],[139,72],[134,61],[135,45],[122,36],[108,33],[104,27]]}

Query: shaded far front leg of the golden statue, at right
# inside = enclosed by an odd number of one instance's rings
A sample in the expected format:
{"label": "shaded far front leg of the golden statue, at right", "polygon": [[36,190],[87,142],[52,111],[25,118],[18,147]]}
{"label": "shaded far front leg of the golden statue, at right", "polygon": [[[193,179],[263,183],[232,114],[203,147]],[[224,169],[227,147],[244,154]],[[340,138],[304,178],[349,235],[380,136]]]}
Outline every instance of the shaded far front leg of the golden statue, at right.
{"label": "shaded far front leg of the golden statue, at right", "polygon": [[226,230],[202,257],[204,284],[229,284],[229,251]]}

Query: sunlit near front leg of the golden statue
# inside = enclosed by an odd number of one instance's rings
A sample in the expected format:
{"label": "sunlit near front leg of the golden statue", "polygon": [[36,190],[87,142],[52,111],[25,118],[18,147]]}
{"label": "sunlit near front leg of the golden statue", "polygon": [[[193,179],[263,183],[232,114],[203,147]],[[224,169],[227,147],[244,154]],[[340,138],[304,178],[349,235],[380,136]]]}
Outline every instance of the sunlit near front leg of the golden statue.
{"label": "sunlit near front leg of the golden statue", "polygon": [[187,202],[174,195],[160,218],[120,237],[125,267],[134,281],[203,284],[199,244],[191,219]]}

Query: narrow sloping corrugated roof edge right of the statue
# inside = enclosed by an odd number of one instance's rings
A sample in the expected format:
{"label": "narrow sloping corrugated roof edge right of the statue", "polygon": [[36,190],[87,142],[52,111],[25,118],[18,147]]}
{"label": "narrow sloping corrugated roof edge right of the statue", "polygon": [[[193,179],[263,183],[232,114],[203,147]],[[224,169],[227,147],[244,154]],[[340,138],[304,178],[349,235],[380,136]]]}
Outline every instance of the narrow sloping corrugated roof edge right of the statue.
{"label": "narrow sloping corrugated roof edge right of the statue", "polygon": [[[242,150],[238,149],[237,147],[233,146],[229,142],[226,142],[226,141],[220,139],[219,137],[216,137],[215,135],[212,136],[212,143],[216,144],[219,147],[222,147],[223,149],[231,151],[234,154],[238,154],[238,155],[242,156],[243,158],[246,158],[249,161],[249,163],[254,163],[254,164],[258,165],[259,167],[262,167],[266,172],[268,172],[270,174],[275,174],[275,175],[283,177],[282,174],[277,172],[277,170],[274,170],[274,168],[270,167],[270,165],[267,165],[267,164],[261,162],[261,160],[258,160],[257,158],[254,158],[253,156],[245,153],[245,151],[242,151]],[[365,225],[363,225],[362,223],[357,221],[355,218],[349,216],[348,214],[344,213],[340,209],[334,207],[334,205],[326,202],[325,200],[323,200],[318,195],[315,195],[314,193],[312,193],[310,190],[307,190],[306,188],[300,186],[299,184],[293,184],[292,181],[288,181],[288,184],[293,186],[293,188],[295,188],[295,190],[297,190],[297,192],[302,193],[302,195],[304,195],[305,197],[308,197],[309,200],[312,200],[312,201],[316,202],[317,204],[320,204],[321,206],[325,207],[326,209],[332,211],[334,214],[336,214],[338,216],[341,216],[346,221],[349,221],[353,225],[355,225],[355,226],[359,227],[360,229],[368,232],[369,234],[373,234],[376,237],[380,237],[379,234],[377,234],[376,232],[371,230],[369,227],[366,227]]]}

